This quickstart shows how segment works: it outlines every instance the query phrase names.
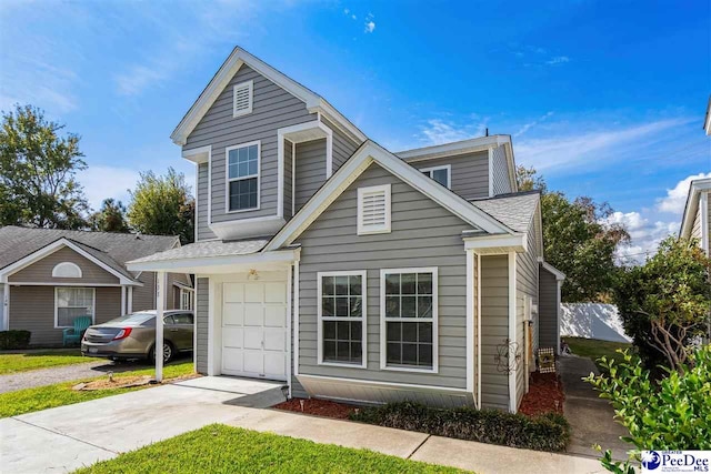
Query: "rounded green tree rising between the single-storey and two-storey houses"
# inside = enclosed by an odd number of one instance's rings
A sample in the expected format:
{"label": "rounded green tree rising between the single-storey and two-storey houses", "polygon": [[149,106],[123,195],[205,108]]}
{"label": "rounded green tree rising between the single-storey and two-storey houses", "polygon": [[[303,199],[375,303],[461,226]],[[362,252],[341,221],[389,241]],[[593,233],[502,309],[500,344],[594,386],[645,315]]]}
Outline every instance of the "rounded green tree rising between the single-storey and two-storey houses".
{"label": "rounded green tree rising between the single-storey and two-storey houses", "polygon": [[194,240],[194,200],[186,177],[168,169],[164,177],[141,173],[131,192],[127,216],[132,229],[154,235],[178,235],[181,243]]}

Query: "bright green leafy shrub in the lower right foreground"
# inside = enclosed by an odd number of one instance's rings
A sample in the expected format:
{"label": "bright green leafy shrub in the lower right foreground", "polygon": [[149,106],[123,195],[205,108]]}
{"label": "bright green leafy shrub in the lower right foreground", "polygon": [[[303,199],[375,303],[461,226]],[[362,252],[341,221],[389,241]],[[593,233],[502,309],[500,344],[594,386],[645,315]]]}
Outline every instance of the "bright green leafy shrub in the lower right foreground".
{"label": "bright green leafy shrub in the lower right foreground", "polygon": [[[667,376],[659,383],[639,356],[621,353],[624,359],[617,364],[601,359],[609,376],[590,374],[587,381],[601,399],[610,400],[618,421],[630,432],[622,440],[639,451],[711,450],[711,345],[691,353],[690,365],[664,369]],[[632,456],[639,458],[639,452]],[[630,472],[629,463],[610,464],[609,456],[602,461],[612,472]]]}

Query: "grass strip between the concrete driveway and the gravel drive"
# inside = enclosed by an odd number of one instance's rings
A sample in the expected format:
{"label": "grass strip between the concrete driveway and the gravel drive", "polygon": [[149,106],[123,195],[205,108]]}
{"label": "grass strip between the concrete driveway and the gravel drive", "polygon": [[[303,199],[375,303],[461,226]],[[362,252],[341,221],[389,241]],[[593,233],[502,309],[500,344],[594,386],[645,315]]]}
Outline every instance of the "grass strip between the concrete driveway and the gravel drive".
{"label": "grass strip between the concrete driveway and the gravel drive", "polygon": [[[192,361],[166,365],[163,377],[172,379],[181,375],[189,375],[193,372]],[[123,375],[151,375],[153,369],[142,369],[138,371],[122,372]],[[106,375],[104,375],[106,377]],[[102,379],[93,377],[89,380]],[[38,386],[33,389],[18,390],[16,392],[0,393],[0,418],[17,416],[23,413],[37,412],[40,410],[53,409],[56,406],[71,405],[73,403],[87,402],[89,400],[103,399],[104,396],[118,395],[134,390],[142,390],[156,385],[143,385],[130,389],[110,389],[101,391],[80,392],[71,390],[79,382],[88,380],[63,382],[53,385]]]}

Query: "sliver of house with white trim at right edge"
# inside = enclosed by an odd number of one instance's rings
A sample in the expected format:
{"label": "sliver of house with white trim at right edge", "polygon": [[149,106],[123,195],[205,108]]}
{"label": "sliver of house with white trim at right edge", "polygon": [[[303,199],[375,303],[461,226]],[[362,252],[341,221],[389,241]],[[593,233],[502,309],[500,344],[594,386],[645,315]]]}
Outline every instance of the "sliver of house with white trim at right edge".
{"label": "sliver of house with white trim at right edge", "polygon": [[681,221],[680,236],[693,238],[711,256],[711,178],[695,180],[689,186],[687,206]]}

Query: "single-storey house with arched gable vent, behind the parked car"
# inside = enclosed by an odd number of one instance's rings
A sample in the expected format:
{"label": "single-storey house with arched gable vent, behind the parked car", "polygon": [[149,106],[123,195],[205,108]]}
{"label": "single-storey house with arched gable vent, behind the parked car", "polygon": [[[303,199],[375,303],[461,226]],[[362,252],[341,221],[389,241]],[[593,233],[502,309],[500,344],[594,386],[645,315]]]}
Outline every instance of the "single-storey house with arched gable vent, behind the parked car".
{"label": "single-storey house with arched gable vent, behind the parked car", "polygon": [[[74,317],[98,324],[154,309],[157,274],[126,262],[179,246],[174,236],[0,228],[0,330],[28,330],[32,345],[56,345]],[[170,273],[168,285],[167,309],[192,309],[190,275]]]}

